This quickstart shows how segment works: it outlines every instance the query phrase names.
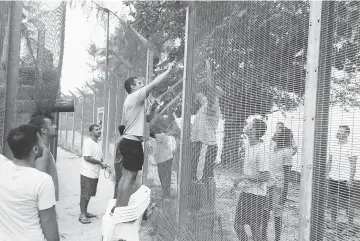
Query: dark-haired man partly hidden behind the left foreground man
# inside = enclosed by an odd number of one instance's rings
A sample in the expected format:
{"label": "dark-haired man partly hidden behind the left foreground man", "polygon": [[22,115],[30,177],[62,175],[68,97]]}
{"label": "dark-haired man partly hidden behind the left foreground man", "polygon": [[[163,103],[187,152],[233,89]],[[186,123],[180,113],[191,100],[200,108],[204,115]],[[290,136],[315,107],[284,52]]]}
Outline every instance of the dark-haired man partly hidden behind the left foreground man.
{"label": "dark-haired man partly hidden behind the left foreground man", "polygon": [[51,117],[35,116],[30,120],[31,125],[35,125],[40,129],[40,136],[44,145],[42,157],[36,159],[35,167],[39,171],[49,174],[55,185],[55,198],[59,201],[59,181],[56,170],[55,158],[50,151],[50,143],[57,136],[57,127],[54,125]]}

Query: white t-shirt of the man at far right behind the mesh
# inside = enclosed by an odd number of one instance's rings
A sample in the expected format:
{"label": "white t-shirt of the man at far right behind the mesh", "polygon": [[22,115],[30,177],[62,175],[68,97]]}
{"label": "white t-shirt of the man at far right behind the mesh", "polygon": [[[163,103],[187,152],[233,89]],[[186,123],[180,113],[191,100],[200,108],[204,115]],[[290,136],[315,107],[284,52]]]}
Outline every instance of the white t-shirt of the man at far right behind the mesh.
{"label": "white t-shirt of the man at far right behind the mesh", "polygon": [[329,178],[335,181],[349,181],[351,167],[349,158],[357,156],[355,150],[352,149],[351,143],[348,141],[331,145],[329,153],[332,156]]}

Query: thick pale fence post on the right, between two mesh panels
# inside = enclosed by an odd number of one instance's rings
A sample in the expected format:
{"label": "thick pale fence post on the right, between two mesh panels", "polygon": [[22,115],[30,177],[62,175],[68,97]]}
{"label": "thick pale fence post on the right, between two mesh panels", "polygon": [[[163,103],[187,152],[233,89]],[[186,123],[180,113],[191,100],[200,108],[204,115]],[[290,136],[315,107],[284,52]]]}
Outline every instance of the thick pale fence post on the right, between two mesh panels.
{"label": "thick pale fence post on the right, between two mesh panels", "polygon": [[[322,120],[322,115],[325,113],[317,112],[319,105],[322,104],[318,102],[318,94],[323,91],[319,91],[318,88],[322,5],[322,1],[310,1],[309,38],[306,63],[307,74],[304,103],[304,129],[301,156],[303,165],[301,170],[300,185],[299,241],[314,240],[311,238],[311,230],[314,228],[312,227],[311,214],[314,194],[314,164],[316,162],[314,160],[315,149],[317,145],[317,136],[315,129],[317,123],[325,121]],[[322,222],[325,222],[325,220],[322,220]]]}

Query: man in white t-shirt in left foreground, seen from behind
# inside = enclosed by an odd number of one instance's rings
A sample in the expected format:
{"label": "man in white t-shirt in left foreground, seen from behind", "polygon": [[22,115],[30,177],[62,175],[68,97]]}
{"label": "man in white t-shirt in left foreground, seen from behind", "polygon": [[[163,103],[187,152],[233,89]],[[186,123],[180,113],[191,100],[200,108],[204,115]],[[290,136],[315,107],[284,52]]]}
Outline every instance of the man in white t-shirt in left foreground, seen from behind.
{"label": "man in white t-shirt in left foreground, seen from behind", "polygon": [[58,241],[52,178],[35,168],[43,144],[40,130],[23,125],[10,131],[14,160],[0,163],[0,240]]}

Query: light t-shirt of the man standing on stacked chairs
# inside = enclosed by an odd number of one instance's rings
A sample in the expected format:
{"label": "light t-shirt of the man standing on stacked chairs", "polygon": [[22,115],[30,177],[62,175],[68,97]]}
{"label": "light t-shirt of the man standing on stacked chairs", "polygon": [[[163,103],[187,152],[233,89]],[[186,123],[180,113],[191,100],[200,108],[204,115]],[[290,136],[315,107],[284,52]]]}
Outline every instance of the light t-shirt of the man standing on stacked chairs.
{"label": "light t-shirt of the man standing on stacked chairs", "polygon": [[146,87],[129,94],[124,102],[124,137],[144,135]]}

